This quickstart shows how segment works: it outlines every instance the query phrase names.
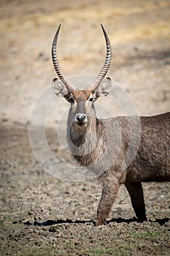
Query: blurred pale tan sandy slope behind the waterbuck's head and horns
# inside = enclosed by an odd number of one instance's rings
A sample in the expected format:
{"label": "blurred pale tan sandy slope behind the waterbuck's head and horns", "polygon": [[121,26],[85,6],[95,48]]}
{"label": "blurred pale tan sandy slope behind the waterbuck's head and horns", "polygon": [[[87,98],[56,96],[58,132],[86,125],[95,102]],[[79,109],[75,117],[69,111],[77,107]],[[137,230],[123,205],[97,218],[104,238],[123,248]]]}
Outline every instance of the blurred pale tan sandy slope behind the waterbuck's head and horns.
{"label": "blurred pale tan sandy slope behind the waterbuck's head and horns", "polygon": [[100,71],[106,53],[102,23],[113,52],[108,75],[128,92],[140,115],[169,111],[169,0],[1,0],[2,120],[26,123],[51,86],[56,76],[51,45],[60,23],[58,59],[67,76]]}

